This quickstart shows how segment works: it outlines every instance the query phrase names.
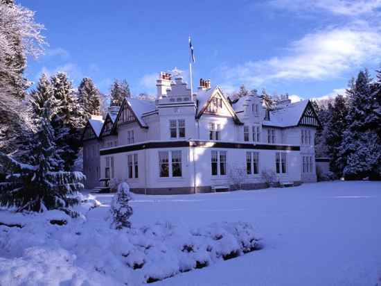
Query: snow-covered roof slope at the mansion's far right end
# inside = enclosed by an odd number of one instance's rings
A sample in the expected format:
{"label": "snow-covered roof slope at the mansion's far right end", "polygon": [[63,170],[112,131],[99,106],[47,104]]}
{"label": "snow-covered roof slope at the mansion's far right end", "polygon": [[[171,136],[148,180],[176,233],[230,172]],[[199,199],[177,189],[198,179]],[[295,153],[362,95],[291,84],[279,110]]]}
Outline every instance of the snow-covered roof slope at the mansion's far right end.
{"label": "snow-covered roof slope at the mansion's far right end", "polygon": [[270,111],[270,119],[264,120],[263,125],[275,127],[297,126],[308,102],[308,100],[304,100],[275,108]]}

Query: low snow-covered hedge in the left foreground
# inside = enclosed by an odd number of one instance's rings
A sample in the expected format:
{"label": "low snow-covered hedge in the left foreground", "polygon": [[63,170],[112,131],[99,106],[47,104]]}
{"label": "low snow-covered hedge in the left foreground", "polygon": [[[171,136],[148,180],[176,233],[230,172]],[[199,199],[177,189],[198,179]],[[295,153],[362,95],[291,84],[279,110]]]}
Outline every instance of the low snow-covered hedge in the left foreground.
{"label": "low snow-covered hedge in the left foreground", "polygon": [[[87,207],[91,205],[94,202],[87,202]],[[235,258],[258,247],[252,226],[242,222],[196,229],[159,222],[114,230],[105,219],[73,219],[57,211],[14,216],[0,210],[0,221],[8,217],[8,223],[22,224],[22,228],[0,226],[1,285],[39,285],[47,280],[50,285],[63,281],[139,285]],[[49,223],[57,217],[68,223]]]}

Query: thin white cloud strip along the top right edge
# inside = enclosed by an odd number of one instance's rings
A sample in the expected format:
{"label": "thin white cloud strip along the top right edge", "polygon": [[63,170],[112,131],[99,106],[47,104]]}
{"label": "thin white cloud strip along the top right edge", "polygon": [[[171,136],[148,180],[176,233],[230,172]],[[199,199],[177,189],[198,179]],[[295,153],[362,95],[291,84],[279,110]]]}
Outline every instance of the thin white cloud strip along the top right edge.
{"label": "thin white cloud strip along the top right edge", "polygon": [[269,4],[278,9],[302,12],[322,10],[344,16],[369,14],[381,8],[381,0],[272,0]]}

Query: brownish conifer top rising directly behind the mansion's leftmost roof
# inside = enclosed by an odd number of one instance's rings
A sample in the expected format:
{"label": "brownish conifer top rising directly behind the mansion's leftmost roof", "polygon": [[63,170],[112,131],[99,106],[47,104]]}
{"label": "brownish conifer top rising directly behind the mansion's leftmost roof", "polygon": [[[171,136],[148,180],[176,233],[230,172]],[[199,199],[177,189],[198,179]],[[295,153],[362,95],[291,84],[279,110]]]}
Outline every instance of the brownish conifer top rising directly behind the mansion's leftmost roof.
{"label": "brownish conifer top rising directly behind the mansion's leftmost roof", "polygon": [[84,112],[85,121],[91,115],[100,114],[100,92],[91,78],[83,78],[78,86],[78,103]]}

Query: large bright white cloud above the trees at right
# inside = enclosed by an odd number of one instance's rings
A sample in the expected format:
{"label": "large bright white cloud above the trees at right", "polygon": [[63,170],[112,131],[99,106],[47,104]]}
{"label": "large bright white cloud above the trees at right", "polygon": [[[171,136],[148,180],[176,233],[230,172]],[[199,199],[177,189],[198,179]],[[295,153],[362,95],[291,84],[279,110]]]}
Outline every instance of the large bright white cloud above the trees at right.
{"label": "large bright white cloud above the trees at right", "polygon": [[249,61],[222,68],[232,85],[258,86],[268,81],[323,80],[335,78],[353,67],[380,60],[381,37],[378,29],[356,24],[309,33],[294,41],[283,56]]}

